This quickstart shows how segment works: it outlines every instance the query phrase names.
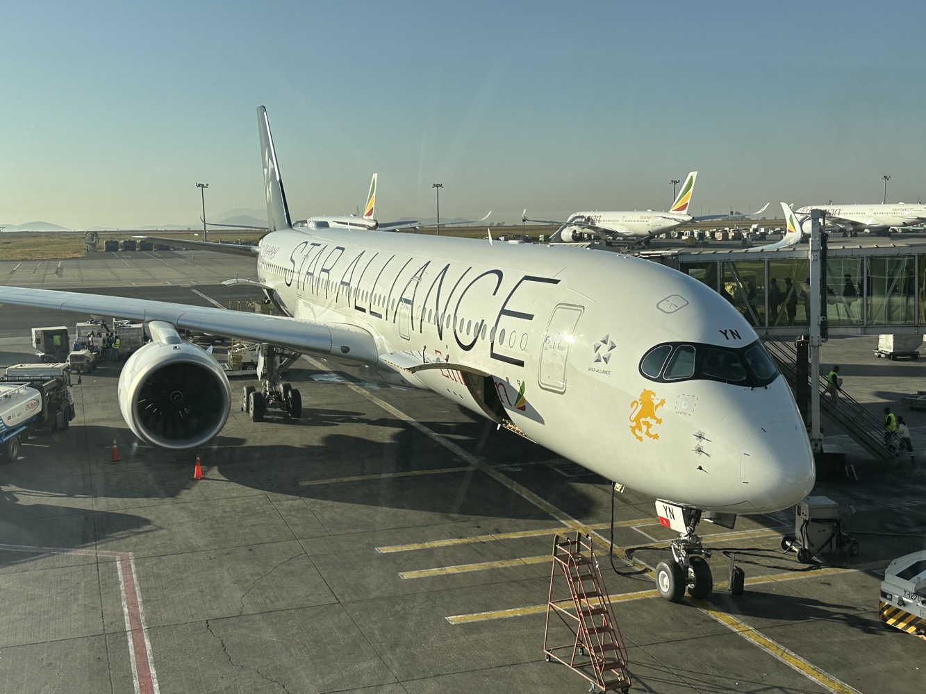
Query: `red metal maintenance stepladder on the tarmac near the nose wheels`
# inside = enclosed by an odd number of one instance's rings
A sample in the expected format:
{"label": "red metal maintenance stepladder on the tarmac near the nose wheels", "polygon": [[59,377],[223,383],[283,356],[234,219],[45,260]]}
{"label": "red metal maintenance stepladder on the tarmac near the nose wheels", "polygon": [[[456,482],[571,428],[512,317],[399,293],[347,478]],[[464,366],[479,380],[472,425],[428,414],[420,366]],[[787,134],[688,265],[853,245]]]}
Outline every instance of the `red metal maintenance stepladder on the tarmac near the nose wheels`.
{"label": "red metal maintenance stepladder on the tarmac near the nose wheels", "polygon": [[553,539],[544,653],[547,663],[557,660],[591,682],[590,691],[631,688],[627,650],[588,536]]}

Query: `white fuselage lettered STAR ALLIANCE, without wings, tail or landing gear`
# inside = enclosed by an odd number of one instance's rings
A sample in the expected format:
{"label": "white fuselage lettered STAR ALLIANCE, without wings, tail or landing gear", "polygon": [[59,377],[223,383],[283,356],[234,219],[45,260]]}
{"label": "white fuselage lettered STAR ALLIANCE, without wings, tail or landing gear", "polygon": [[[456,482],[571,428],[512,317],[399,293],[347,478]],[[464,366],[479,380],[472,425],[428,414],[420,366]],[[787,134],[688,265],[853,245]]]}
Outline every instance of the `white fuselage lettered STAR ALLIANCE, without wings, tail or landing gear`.
{"label": "white fuselage lettered STAR ALLIANCE, without wings, tail or landing gear", "polygon": [[[291,316],[369,330],[382,378],[633,489],[757,513],[812,487],[784,379],[743,316],[682,273],[578,249],[286,229],[261,242],[258,278]],[[657,353],[647,376],[642,359],[658,345],[666,373]],[[707,353],[771,371],[725,382],[730,373],[699,372]]]}

